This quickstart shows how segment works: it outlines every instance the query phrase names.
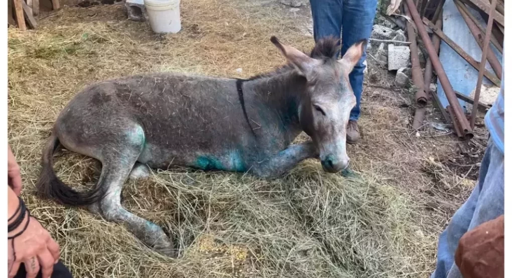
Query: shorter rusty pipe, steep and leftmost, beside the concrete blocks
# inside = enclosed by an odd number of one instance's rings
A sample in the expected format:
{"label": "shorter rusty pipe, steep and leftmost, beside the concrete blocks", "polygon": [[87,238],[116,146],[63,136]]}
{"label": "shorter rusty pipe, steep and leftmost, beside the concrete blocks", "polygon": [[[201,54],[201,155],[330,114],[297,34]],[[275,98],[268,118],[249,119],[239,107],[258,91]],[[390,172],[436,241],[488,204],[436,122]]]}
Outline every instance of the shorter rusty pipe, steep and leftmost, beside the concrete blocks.
{"label": "shorter rusty pipe, steep and leftmost, beside the concrete blocks", "polygon": [[[403,7],[406,10],[406,15],[411,16],[409,9],[406,6]],[[421,66],[419,65],[418,46],[416,45],[416,33],[414,33],[413,24],[407,22],[407,36],[411,42],[409,49],[411,50],[411,74],[413,78],[414,86],[416,87],[416,104],[419,108],[423,108],[426,105],[427,99],[425,94],[425,82],[421,75]]]}

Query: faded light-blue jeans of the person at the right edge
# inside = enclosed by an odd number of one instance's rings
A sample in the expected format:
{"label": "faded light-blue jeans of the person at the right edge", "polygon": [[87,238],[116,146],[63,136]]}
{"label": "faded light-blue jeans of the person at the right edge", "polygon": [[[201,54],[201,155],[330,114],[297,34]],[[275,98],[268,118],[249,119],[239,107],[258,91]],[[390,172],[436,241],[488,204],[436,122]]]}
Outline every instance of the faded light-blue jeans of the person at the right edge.
{"label": "faded light-blue jeans of the person at the right edge", "polygon": [[503,214],[503,185],[504,156],[489,139],[478,184],[439,237],[437,266],[431,278],[462,278],[454,263],[459,240],[468,230]]}

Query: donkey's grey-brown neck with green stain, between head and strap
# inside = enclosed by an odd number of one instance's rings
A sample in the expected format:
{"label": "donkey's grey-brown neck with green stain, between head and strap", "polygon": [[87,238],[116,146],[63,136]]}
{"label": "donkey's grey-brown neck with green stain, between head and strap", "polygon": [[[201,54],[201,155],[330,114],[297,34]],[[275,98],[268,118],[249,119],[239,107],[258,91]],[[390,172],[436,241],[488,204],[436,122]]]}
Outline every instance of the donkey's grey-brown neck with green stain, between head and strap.
{"label": "donkey's grey-brown neck with green stain, between head and strap", "polygon": [[249,79],[243,85],[254,98],[279,114],[284,132],[293,140],[301,133],[298,106],[305,95],[306,80],[293,69],[278,70],[267,76]]}

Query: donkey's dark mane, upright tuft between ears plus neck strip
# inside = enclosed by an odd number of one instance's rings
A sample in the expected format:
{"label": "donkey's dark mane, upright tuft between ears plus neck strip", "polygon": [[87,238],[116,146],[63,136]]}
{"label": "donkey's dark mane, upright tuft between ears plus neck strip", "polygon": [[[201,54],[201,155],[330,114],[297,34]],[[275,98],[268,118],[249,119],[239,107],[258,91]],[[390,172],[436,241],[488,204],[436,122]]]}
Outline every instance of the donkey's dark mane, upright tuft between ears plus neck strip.
{"label": "donkey's dark mane, upright tuft between ears plus neck strip", "polygon": [[[339,39],[336,39],[333,36],[327,36],[322,39],[319,39],[313,49],[311,50],[309,56],[314,59],[327,61],[329,59],[336,59],[336,54],[339,51]],[[284,66],[281,66],[271,72],[258,74],[250,77],[248,80],[255,80],[265,77],[271,77],[275,75],[279,75],[281,73],[285,73],[291,70],[294,70],[295,67],[291,63],[287,63]]]}

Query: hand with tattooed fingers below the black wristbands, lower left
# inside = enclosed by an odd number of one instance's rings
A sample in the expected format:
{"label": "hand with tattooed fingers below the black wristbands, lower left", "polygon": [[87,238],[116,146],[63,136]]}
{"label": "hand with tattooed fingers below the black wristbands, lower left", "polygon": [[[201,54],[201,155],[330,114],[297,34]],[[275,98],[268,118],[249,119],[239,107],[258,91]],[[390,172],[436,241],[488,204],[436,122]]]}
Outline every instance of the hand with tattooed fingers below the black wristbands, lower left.
{"label": "hand with tattooed fingers below the black wristbands, lower left", "polygon": [[25,221],[16,230],[10,232],[9,236],[22,231],[29,218],[30,222],[27,229],[18,237],[9,240],[9,278],[16,275],[21,263],[25,265],[27,278],[35,278],[39,269],[43,278],[50,278],[53,266],[59,260],[60,250],[58,244],[50,237],[50,233],[41,226],[39,221],[27,213]]}

